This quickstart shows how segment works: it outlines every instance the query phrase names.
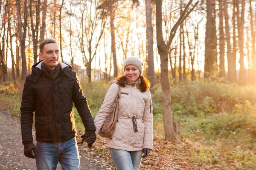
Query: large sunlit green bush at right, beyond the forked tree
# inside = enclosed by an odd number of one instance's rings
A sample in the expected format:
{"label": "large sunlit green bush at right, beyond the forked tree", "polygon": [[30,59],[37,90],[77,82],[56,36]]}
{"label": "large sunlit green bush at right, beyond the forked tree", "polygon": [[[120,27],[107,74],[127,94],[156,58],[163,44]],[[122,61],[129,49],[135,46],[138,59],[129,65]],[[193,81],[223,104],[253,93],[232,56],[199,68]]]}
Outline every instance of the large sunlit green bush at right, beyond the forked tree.
{"label": "large sunlit green bush at right, beyond the forked tree", "polygon": [[235,105],[256,102],[255,86],[238,86],[210,79],[182,82],[171,87],[172,104],[179,103],[183,114],[207,115],[231,112]]}

